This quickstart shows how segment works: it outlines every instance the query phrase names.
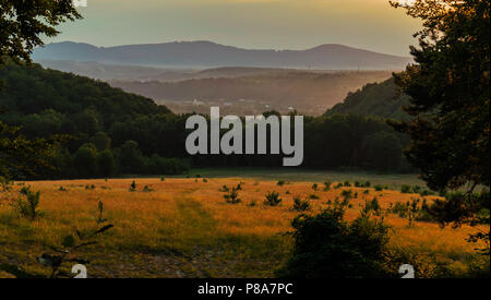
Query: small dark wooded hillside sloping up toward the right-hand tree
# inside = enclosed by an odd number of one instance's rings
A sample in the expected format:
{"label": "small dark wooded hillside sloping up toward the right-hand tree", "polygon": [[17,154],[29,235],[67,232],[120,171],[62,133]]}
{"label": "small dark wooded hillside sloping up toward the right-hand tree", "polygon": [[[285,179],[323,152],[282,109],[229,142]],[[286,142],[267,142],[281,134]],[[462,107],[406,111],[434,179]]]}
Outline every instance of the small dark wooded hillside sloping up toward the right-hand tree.
{"label": "small dark wooded hillside sloping up toward the right-hand tree", "polygon": [[408,118],[408,115],[403,110],[403,106],[408,104],[408,96],[397,95],[394,79],[390,79],[383,83],[367,84],[363,88],[349,93],[343,103],[327,110],[325,116],[355,113],[403,120]]}

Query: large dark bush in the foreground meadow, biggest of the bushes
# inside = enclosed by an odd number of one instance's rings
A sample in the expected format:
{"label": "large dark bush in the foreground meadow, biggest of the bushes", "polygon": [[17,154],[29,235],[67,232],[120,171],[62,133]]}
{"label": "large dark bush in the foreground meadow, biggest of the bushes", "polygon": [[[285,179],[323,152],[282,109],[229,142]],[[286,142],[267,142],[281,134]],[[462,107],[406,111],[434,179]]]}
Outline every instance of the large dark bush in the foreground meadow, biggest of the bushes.
{"label": "large dark bush in the foreground meadow, biggest of the bushes", "polygon": [[291,259],[277,272],[291,278],[385,277],[384,252],[388,228],[382,221],[359,217],[344,220],[346,204],[316,216],[300,215],[292,221]]}

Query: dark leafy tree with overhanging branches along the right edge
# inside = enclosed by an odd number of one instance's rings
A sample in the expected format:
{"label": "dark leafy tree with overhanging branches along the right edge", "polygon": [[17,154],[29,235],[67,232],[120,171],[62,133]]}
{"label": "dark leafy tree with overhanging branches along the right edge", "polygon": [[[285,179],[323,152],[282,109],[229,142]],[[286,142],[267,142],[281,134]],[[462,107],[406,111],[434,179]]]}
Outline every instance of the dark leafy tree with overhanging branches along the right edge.
{"label": "dark leafy tree with overhanging branches along the right edge", "polygon": [[[394,2],[394,7],[399,3]],[[410,96],[409,121],[392,122],[410,135],[406,156],[422,172],[430,189],[466,187],[465,194],[436,202],[442,224],[472,224],[480,208],[472,196],[477,185],[490,187],[490,1],[416,0],[405,7],[421,19],[411,47],[416,64],[395,75]],[[466,199],[467,197],[467,199]],[[489,232],[481,238],[488,243]]]}

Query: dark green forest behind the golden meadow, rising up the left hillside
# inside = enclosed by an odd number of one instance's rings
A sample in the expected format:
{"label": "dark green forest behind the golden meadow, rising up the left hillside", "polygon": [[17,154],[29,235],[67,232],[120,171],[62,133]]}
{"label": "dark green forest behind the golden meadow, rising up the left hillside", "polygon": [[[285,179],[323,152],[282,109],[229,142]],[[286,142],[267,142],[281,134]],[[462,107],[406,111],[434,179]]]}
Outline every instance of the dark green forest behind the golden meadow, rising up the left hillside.
{"label": "dark green forest behind the golden meadow, rising up the left hillside", "polygon": [[[202,166],[282,166],[283,155],[190,157],[185,153],[189,131],[184,130],[189,115],[172,113],[148,98],[100,81],[14,63],[0,69],[0,80],[5,83],[0,92],[0,120],[20,127],[29,139],[61,137],[50,157],[57,170],[43,178],[173,175]],[[340,109],[355,97],[363,103],[388,101],[385,85],[392,83],[381,84],[381,93],[371,92],[379,85],[368,85],[351,94],[335,108],[342,113],[306,117],[302,167],[408,171],[402,152],[408,139],[379,118],[392,115]]]}

